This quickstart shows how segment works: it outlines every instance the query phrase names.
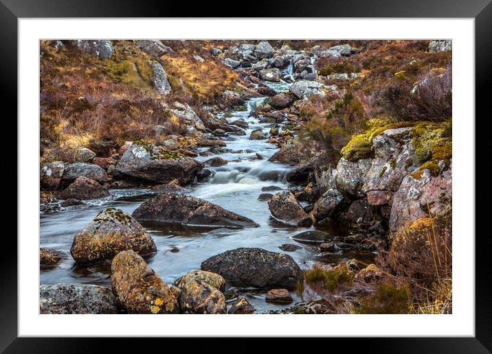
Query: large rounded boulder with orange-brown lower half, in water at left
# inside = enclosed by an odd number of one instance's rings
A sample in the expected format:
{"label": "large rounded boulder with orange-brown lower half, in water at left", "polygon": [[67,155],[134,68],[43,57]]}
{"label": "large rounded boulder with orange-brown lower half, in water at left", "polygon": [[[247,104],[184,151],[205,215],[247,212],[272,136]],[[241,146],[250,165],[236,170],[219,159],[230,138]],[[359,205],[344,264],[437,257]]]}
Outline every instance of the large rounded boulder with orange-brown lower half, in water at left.
{"label": "large rounded boulder with orange-brown lower half, in water at left", "polygon": [[122,250],[140,255],[157,248],[147,231],[133,217],[119,209],[107,208],[75,237],[70,252],[77,263],[96,264],[113,259]]}

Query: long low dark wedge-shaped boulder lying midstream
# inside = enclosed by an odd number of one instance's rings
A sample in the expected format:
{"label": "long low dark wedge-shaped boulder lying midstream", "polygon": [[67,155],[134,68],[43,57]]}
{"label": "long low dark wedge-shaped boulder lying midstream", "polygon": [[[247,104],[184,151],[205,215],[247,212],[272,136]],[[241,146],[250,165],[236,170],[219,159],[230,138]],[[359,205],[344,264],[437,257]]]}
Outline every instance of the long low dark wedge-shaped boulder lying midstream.
{"label": "long low dark wedge-shaped boulder lying midstream", "polygon": [[132,214],[139,222],[225,228],[258,227],[247,217],[192,196],[164,193],[146,200]]}

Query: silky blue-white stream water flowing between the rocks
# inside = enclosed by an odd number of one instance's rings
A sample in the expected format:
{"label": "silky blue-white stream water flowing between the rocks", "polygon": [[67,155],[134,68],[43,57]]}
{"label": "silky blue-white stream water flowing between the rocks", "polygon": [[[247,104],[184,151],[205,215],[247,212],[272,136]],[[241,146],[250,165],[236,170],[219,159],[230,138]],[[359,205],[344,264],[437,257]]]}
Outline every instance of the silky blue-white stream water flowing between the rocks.
{"label": "silky blue-white stream water flowing between the rocks", "polygon": [[[190,229],[190,228],[148,228],[157,246],[157,254],[146,258],[149,266],[168,284],[172,284],[186,272],[199,269],[201,262],[226,250],[239,247],[259,247],[273,252],[282,252],[278,247],[282,244],[301,246],[295,252],[286,252],[299,264],[307,268],[317,259],[319,251],[314,246],[299,244],[291,237],[296,233],[312,228],[285,228],[272,224],[267,202],[257,198],[262,187],[274,185],[282,189],[288,187],[284,179],[287,165],[271,163],[268,158],[277,151],[275,145],[265,140],[251,141],[249,134],[260,128],[265,134],[271,124],[262,124],[258,118],[250,115],[256,104],[265,98],[254,98],[247,103],[247,110],[232,113],[228,121],[244,119],[249,123],[246,135],[230,135],[226,141],[230,152],[217,155],[230,162],[222,167],[210,167],[212,176],[206,182],[192,186],[190,194],[203,198],[221,207],[234,211],[254,220],[260,227],[243,230],[225,228]],[[253,160],[256,153],[262,160]],[[199,156],[205,161],[212,156]],[[41,212],[41,247],[52,248],[65,253],[65,259],[57,268],[41,271],[41,283],[95,283],[109,284],[109,266],[77,266],[69,254],[74,235],[82,230],[96,214],[106,208],[115,207],[132,213],[140,204],[152,195],[142,189],[111,190],[111,197],[102,200],[87,201],[74,207],[57,207],[53,211]],[[266,192],[266,193],[275,193]],[[146,226],[146,225],[144,225]],[[179,252],[170,252],[174,247]],[[291,292],[294,302],[301,301],[295,292]],[[290,305],[273,305],[265,302],[265,294],[251,292],[247,294],[249,302],[261,313],[265,309],[280,309]]]}

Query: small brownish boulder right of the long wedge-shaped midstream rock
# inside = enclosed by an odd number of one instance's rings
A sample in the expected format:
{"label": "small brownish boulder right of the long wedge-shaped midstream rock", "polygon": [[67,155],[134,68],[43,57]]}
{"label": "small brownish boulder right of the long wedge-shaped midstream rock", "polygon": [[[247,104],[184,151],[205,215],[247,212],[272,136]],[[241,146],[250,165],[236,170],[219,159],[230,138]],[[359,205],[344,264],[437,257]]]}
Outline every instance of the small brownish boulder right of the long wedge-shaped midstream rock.
{"label": "small brownish boulder right of the long wedge-shaped midstream rock", "polygon": [[281,191],[268,201],[268,208],[276,220],[291,226],[310,226],[313,221],[290,191]]}

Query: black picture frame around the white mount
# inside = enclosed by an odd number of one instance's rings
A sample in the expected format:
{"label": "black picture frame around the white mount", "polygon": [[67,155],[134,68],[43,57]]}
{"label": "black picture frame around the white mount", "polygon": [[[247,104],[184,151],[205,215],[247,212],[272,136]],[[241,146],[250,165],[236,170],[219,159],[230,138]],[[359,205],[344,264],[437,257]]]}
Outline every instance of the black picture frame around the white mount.
{"label": "black picture frame around the white mount", "polygon": [[[275,0],[234,10],[230,2],[179,2],[157,0],[0,0],[0,66],[1,107],[12,107],[10,117],[16,114],[17,98],[17,21],[20,18],[43,17],[418,17],[418,18],[473,18],[475,19],[476,54],[476,112],[487,112],[487,86],[491,82],[492,63],[492,4],[491,0]],[[490,113],[489,113],[490,115]],[[34,117],[33,117],[34,119]],[[473,117],[469,117],[473,123]],[[477,130],[476,130],[477,131]],[[477,140],[478,141],[478,140]],[[479,151],[478,149],[476,149]],[[478,160],[476,160],[478,161]],[[479,176],[477,176],[479,177]],[[484,177],[482,177],[484,178]],[[478,178],[476,182],[478,182]],[[18,189],[21,186],[18,185]],[[475,207],[475,206],[470,206]],[[485,211],[476,208],[478,215]],[[480,220],[480,217],[478,218]],[[476,237],[476,337],[474,338],[359,338],[350,339],[350,347],[361,346],[368,353],[490,353],[492,351],[492,306],[489,299],[490,231]],[[472,239],[475,235],[460,235]],[[5,238],[12,238],[4,235]],[[0,292],[0,351],[19,353],[82,353],[98,348],[96,339],[88,338],[17,338],[17,245],[3,244]],[[4,241],[5,242],[5,241]],[[203,339],[202,339],[203,340]],[[179,343],[187,343],[181,339]],[[342,342],[344,339],[330,339]],[[345,340],[346,341],[346,340]],[[115,341],[116,342],[116,341]],[[282,340],[291,346],[292,340]],[[347,346],[344,342],[344,346]],[[282,346],[282,344],[280,344]],[[338,343],[337,343],[338,344]],[[342,343],[340,343],[342,344]],[[128,340],[119,339],[118,346],[127,346]],[[208,344],[203,344],[207,346]],[[238,340],[236,348],[251,349],[246,340]],[[286,347],[287,347],[286,346]],[[280,347],[277,347],[280,349]]]}

